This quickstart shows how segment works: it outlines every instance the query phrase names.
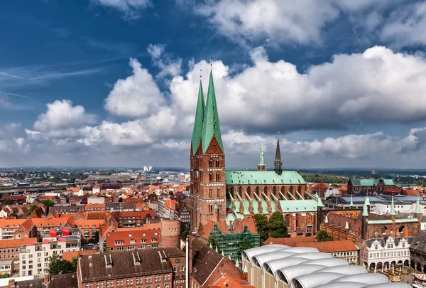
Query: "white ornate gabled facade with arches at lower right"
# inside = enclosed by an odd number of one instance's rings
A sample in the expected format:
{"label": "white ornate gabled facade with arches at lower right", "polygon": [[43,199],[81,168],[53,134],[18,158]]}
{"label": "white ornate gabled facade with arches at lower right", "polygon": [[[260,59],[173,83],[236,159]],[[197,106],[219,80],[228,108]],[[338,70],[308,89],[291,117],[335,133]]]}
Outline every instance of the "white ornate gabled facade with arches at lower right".
{"label": "white ornate gabled facade with arches at lower right", "polygon": [[375,238],[366,241],[367,249],[363,251],[362,262],[370,270],[396,269],[396,266],[410,265],[410,244],[414,237]]}

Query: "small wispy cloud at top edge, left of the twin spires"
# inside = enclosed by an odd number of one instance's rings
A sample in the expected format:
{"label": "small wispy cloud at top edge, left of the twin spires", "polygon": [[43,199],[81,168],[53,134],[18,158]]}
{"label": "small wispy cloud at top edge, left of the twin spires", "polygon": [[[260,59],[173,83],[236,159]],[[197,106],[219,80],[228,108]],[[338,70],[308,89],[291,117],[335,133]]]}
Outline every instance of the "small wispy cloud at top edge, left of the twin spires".
{"label": "small wispy cloud at top edge, left of the twin spires", "polygon": [[152,5],[151,0],[90,0],[90,2],[117,9],[129,20],[140,18],[141,11]]}

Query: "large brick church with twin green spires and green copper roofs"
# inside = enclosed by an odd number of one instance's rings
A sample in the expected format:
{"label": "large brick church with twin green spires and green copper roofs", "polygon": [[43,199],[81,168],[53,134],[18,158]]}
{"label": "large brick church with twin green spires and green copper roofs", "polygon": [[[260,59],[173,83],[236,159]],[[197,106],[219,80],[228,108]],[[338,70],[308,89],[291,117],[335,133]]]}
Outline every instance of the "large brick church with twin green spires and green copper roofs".
{"label": "large brick church with twin green spires and green copper roofs", "polygon": [[207,223],[226,223],[253,219],[261,213],[269,217],[282,212],[289,234],[314,235],[317,207],[322,201],[307,192],[298,171],[283,170],[279,140],[274,170],[268,171],[261,146],[257,170],[226,171],[225,151],[219,126],[214,81],[210,73],[207,101],[202,83],[198,92],[190,149],[190,193],[192,231]]}

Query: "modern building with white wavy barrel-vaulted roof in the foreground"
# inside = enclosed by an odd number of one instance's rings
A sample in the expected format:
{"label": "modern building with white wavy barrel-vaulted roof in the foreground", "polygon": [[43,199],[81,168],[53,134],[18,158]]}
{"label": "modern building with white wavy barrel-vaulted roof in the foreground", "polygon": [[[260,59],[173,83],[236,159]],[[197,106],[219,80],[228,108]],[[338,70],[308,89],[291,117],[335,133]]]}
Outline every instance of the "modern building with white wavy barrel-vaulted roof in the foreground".
{"label": "modern building with white wavy barrel-vaulted roof in the foreground", "polygon": [[247,281],[256,288],[410,288],[312,247],[271,244],[244,250],[241,256]]}

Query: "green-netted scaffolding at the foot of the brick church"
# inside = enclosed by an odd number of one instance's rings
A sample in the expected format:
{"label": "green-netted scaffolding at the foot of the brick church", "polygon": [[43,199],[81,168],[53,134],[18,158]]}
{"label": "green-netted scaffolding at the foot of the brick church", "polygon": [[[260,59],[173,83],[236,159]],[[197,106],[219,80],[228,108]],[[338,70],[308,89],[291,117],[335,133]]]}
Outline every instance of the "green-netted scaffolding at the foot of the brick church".
{"label": "green-netted scaffolding at the foot of the brick church", "polygon": [[244,239],[249,240],[253,247],[259,247],[261,242],[261,236],[257,233],[250,233],[247,226],[244,226],[242,233],[235,233],[232,225],[229,225],[229,233],[222,234],[215,224],[209,237],[217,241],[217,251],[226,257],[231,257],[234,262],[241,260],[241,254],[238,253],[238,249]]}

